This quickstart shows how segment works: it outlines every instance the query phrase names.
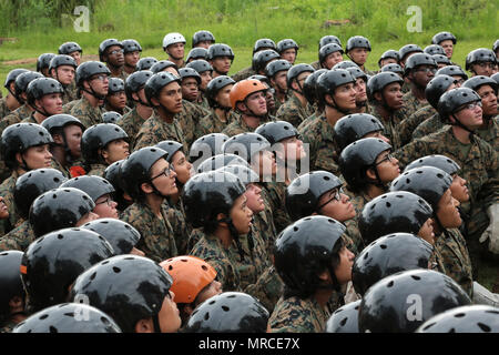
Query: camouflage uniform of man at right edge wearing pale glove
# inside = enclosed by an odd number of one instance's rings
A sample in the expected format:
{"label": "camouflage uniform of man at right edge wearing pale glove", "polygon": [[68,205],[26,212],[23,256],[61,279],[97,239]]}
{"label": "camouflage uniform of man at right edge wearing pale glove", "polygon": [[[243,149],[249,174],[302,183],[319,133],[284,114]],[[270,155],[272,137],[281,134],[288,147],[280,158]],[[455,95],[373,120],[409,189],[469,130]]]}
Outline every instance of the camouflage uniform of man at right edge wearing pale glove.
{"label": "camouflage uniform of man at right edge wearing pale glove", "polygon": [[461,166],[459,175],[468,182],[470,195],[470,203],[461,205],[462,212],[469,215],[467,240],[478,240],[489,224],[485,211],[499,201],[498,153],[478,136],[470,144],[460,143],[450,125],[395,152],[400,169],[417,158],[430,154],[447,155]]}

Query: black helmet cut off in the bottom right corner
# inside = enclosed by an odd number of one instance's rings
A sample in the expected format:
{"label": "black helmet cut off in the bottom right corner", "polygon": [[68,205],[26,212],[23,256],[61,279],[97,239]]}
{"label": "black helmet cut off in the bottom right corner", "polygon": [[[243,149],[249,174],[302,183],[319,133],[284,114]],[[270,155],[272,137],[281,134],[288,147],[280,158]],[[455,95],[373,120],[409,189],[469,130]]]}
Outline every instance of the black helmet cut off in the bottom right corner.
{"label": "black helmet cut off in the bottom right corner", "polygon": [[416,333],[499,333],[499,310],[481,304],[452,308],[429,318]]}

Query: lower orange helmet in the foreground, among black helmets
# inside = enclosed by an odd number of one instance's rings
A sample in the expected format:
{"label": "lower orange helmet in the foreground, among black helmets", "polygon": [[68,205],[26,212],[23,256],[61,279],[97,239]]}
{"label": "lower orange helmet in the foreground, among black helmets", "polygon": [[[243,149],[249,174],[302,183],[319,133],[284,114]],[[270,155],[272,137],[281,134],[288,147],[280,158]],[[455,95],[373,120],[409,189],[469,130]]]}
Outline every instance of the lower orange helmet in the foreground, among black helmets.
{"label": "lower orange helmet in the foreground, among black helmets", "polygon": [[170,290],[175,294],[175,303],[193,303],[197,294],[216,277],[212,265],[192,255],[165,260],[160,266],[173,278]]}

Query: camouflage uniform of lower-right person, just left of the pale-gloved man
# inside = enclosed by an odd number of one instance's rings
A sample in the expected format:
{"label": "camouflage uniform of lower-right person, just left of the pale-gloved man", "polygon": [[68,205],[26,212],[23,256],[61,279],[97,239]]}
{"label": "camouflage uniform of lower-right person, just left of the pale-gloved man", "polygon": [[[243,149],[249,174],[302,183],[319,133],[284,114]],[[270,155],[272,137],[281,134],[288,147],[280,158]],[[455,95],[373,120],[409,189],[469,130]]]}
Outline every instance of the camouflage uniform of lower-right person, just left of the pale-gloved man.
{"label": "camouflage uniform of lower-right person, just left of the pale-gloved man", "polygon": [[447,230],[437,239],[435,247],[440,251],[447,276],[456,281],[472,297],[473,276],[471,260],[465,237],[459,230]]}

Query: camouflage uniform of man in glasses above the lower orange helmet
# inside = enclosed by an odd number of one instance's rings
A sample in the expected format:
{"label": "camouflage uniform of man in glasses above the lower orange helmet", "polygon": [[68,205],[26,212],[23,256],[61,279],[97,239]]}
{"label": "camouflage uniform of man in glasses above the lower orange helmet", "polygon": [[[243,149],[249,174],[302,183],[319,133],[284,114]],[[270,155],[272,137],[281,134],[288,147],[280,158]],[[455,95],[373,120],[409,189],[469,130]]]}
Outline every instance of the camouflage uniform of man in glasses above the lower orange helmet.
{"label": "camouflage uniform of man in glasses above the lower orange helmet", "polygon": [[156,263],[179,255],[164,204],[161,210],[160,219],[147,204],[135,202],[124,210],[120,217],[141,233],[142,237],[136,247]]}

